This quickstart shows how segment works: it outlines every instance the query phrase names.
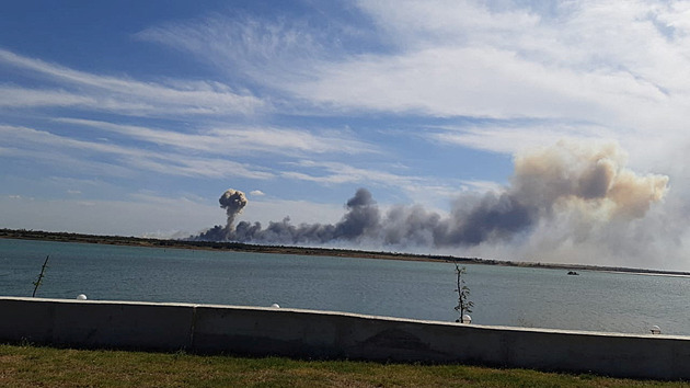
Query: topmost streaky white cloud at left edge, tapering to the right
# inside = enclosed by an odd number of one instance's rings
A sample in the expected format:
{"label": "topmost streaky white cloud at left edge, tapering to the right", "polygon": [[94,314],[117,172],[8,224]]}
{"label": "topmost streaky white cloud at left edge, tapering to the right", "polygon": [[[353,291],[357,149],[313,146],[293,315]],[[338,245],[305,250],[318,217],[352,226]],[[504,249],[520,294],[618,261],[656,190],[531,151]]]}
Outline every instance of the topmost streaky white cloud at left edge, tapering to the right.
{"label": "topmost streaky white cloud at left edge, tapering to the right", "polygon": [[[129,115],[252,114],[266,103],[217,81],[138,81],[94,75],[0,48],[0,66],[57,83],[55,89],[0,85],[0,107],[76,106]],[[11,95],[12,99],[7,98]]]}

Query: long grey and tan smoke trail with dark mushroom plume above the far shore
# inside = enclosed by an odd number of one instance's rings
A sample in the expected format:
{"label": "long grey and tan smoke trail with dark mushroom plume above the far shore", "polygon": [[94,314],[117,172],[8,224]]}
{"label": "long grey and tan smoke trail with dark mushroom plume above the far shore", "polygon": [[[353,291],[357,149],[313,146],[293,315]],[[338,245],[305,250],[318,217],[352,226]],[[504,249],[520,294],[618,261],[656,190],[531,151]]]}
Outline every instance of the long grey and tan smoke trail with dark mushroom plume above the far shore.
{"label": "long grey and tan smoke trail with dark mushroom plume above the far shore", "polygon": [[641,175],[625,162],[616,144],[560,141],[517,156],[502,191],[459,194],[449,215],[427,210],[424,204],[395,205],[382,215],[371,193],[359,189],[336,224],[292,225],[286,217],[266,228],[248,221],[234,227],[246,198],[229,190],[220,198],[228,224],[195,239],[447,249],[525,244],[553,225],[577,243],[591,240],[608,225],[644,218],[665,197],[668,176]]}

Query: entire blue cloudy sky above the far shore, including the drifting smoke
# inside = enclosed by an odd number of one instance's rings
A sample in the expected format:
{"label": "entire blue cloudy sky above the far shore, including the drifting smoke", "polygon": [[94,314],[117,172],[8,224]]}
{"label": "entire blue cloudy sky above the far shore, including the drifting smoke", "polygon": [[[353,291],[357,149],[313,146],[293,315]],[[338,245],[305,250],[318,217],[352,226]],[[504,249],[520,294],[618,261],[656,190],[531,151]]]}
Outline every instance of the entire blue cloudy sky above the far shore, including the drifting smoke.
{"label": "entire blue cloudy sky above the far shore, including the drifting smoke", "polygon": [[0,227],[690,271],[689,109],[689,2],[11,1]]}

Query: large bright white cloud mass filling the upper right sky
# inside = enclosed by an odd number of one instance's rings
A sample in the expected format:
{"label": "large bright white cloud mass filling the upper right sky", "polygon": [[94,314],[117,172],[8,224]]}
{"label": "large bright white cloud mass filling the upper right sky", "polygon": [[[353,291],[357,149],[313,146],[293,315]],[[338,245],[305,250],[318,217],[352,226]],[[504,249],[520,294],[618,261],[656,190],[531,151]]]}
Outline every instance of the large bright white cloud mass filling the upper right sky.
{"label": "large bright white cloud mass filling the upper right sky", "polygon": [[311,78],[276,88],[350,114],[499,119],[428,137],[482,150],[612,138],[635,160],[654,161],[685,147],[690,28],[677,21],[688,7],[557,4],[545,12],[509,1],[501,9],[469,1],[360,2],[394,49],[314,61]]}

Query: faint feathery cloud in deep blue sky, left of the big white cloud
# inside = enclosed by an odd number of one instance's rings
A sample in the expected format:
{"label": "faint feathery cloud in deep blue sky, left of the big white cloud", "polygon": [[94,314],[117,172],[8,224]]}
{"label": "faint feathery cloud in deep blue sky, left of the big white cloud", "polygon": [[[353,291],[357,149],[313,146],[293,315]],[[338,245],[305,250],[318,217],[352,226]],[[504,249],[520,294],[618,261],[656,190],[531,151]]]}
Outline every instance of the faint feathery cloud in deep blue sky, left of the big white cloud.
{"label": "faint feathery cloud in deep blue sky, left of the big white cloud", "polygon": [[233,12],[150,26],[135,38],[194,53],[226,73],[251,77],[265,84],[310,78],[312,61],[344,57],[347,42],[365,44],[364,34],[363,28],[344,25],[337,18],[323,23]]}

